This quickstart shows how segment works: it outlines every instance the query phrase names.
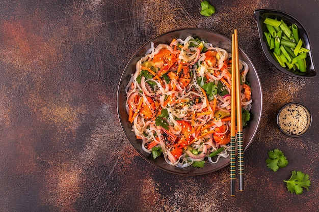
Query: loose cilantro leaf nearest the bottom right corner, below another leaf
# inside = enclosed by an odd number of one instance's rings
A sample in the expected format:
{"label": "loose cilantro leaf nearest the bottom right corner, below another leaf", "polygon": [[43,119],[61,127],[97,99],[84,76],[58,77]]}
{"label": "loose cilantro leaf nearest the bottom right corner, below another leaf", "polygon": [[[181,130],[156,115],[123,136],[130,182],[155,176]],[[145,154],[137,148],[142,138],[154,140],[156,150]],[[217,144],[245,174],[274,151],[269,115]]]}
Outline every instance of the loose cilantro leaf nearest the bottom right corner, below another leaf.
{"label": "loose cilantro leaf nearest the bottom right corner, below another leaf", "polygon": [[296,193],[297,195],[302,194],[303,188],[309,190],[310,180],[309,175],[303,173],[302,171],[291,171],[291,177],[288,180],[283,180],[287,183],[288,191],[292,193]]}

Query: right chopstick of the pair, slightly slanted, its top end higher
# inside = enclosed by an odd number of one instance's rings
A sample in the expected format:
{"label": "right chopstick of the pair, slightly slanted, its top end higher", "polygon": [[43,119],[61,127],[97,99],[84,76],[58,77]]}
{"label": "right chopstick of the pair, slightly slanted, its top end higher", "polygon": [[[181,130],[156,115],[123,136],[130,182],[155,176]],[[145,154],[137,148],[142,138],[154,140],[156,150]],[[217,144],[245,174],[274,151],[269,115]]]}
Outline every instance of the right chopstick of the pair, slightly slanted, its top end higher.
{"label": "right chopstick of the pair, slightly slanted, its top end higher", "polygon": [[241,80],[239,70],[237,30],[234,30],[235,37],[235,72],[236,72],[236,112],[237,112],[237,145],[238,145],[238,175],[239,191],[244,191],[244,147],[243,147],[243,123],[242,123],[242,100]]}

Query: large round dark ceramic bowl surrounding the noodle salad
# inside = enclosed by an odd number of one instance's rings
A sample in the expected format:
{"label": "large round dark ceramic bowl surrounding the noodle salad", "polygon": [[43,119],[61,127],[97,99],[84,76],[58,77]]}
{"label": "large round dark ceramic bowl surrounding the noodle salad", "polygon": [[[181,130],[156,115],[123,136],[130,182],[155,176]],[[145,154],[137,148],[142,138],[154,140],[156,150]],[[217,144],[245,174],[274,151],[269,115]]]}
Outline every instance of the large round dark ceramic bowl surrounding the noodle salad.
{"label": "large round dark ceramic bowl surrounding the noodle salad", "polygon": [[[230,157],[228,158],[221,158],[220,161],[216,164],[206,163],[203,168],[194,168],[193,166],[189,166],[186,168],[178,168],[175,166],[171,166],[165,162],[163,157],[159,157],[156,159],[152,159],[149,157],[149,154],[145,153],[142,150],[142,142],[139,139],[136,139],[134,132],[132,132],[132,125],[128,122],[128,114],[125,110],[125,101],[126,101],[126,94],[125,94],[125,87],[129,82],[131,74],[136,71],[136,63],[138,60],[145,55],[145,52],[150,48],[151,42],[154,43],[154,46],[157,46],[161,43],[170,43],[173,38],[181,38],[185,39],[188,36],[193,36],[196,38],[200,38],[205,40],[216,47],[221,47],[229,52],[231,51],[231,41],[225,38],[222,35],[217,33],[208,31],[206,29],[199,29],[199,28],[186,28],[186,29],[178,29],[176,31],[171,31],[165,33],[163,35],[157,36],[152,40],[145,43],[137,52],[136,54],[129,60],[128,64],[126,65],[124,72],[122,74],[121,80],[119,82],[118,87],[118,94],[117,94],[117,109],[118,115],[121,122],[121,126],[123,131],[131,143],[131,145],[137,150],[137,152],[149,163],[154,165],[157,168],[161,168],[162,170],[175,173],[175,174],[182,174],[182,175],[200,175],[200,174],[207,174],[210,172],[217,171],[227,165],[230,164]],[[261,117],[261,109],[262,109],[262,92],[258,74],[256,72],[255,67],[253,66],[251,60],[248,56],[240,49],[240,58],[244,60],[249,66],[249,72],[247,75],[247,80],[250,82],[252,86],[252,119],[248,123],[248,127],[244,128],[244,150],[250,145],[253,141],[253,138],[257,132],[257,128],[260,122]]]}

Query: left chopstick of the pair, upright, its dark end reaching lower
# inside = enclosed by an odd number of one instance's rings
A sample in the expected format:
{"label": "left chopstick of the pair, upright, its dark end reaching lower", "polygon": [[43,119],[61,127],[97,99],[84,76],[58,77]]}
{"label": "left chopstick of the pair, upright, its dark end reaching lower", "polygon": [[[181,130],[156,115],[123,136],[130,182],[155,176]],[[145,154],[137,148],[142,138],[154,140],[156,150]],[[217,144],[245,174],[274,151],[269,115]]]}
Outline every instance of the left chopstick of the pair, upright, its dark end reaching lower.
{"label": "left chopstick of the pair, upright, its dark end reaching lower", "polygon": [[235,89],[235,35],[232,34],[231,42],[231,111],[230,111],[230,186],[231,196],[235,196],[236,179],[236,89]]}

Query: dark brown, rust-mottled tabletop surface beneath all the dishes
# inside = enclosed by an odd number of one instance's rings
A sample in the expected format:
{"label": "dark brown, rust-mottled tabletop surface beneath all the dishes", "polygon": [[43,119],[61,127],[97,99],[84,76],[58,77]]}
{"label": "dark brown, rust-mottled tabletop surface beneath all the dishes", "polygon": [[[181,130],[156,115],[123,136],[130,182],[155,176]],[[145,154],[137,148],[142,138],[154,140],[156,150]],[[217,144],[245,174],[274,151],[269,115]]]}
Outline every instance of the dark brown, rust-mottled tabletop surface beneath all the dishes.
{"label": "dark brown, rust-mottled tabletop surface beneath all the dishes", "polygon": [[[319,67],[319,2],[0,1],[0,211],[317,211],[318,77],[285,75],[264,56],[253,11],[293,14],[306,28]],[[152,167],[131,147],[116,93],[130,57],[149,39],[184,27],[211,29],[238,43],[254,63],[263,115],[245,152],[245,191],[230,197],[229,168],[180,176]],[[311,131],[288,138],[276,126],[287,102],[313,116]],[[281,149],[287,167],[264,160]],[[291,170],[308,173],[309,191],[290,194]]]}

